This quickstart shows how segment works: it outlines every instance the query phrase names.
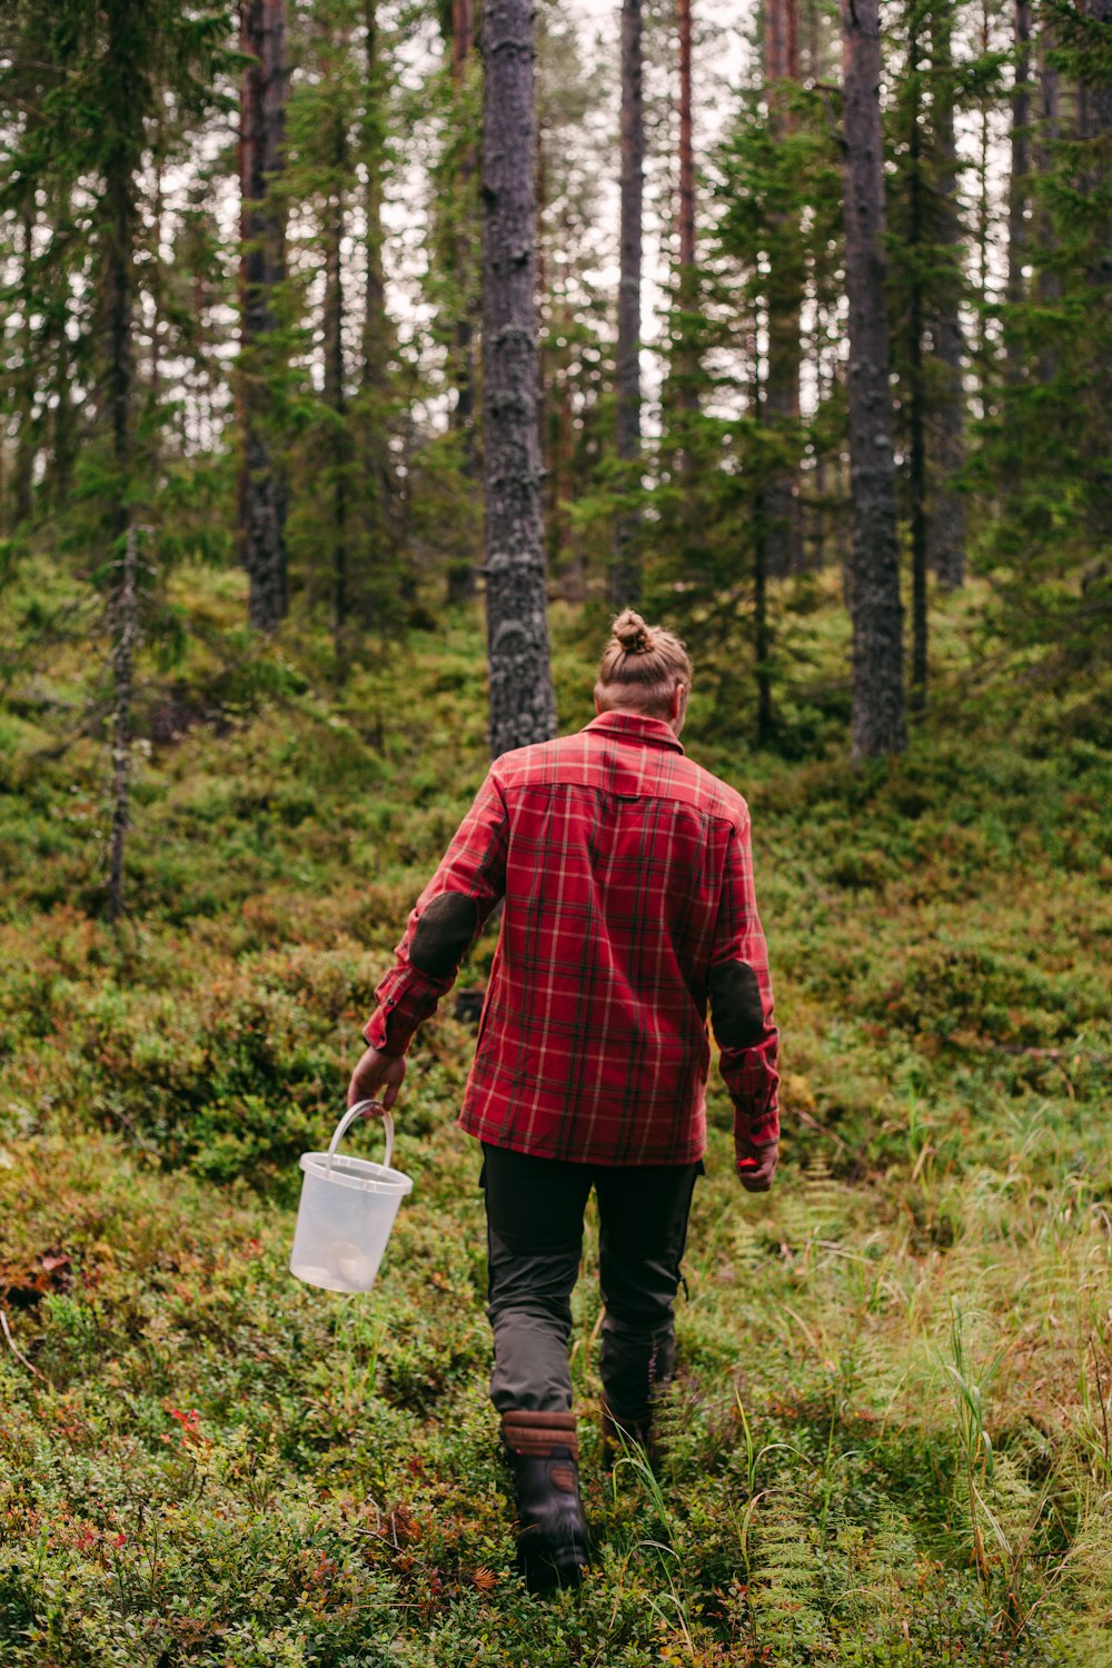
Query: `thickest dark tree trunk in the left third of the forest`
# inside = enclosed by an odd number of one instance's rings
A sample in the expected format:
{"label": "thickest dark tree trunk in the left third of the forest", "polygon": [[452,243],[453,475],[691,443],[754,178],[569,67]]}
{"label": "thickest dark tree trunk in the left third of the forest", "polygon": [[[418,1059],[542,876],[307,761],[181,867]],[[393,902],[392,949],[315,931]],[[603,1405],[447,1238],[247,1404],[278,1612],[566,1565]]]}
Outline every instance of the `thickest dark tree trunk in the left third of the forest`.
{"label": "thickest dark tree trunk in the left third of the forest", "polygon": [[285,617],[285,480],[275,457],[272,375],[275,287],[285,279],[285,215],[273,197],[285,140],[285,0],[240,0],[243,72],[240,103],[240,512],[248,619],[273,632]]}

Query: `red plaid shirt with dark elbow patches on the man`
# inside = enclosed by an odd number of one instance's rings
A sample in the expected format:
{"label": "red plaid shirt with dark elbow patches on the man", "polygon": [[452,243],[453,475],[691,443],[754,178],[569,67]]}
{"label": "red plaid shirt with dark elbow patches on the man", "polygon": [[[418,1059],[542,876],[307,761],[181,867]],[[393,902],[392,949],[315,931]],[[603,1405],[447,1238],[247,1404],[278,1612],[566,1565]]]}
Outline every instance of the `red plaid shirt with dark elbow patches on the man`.
{"label": "red plaid shirt with dark elbow patches on the man", "polygon": [[710,1004],[739,1141],[779,1136],[749,809],[669,724],[605,712],[495,761],[375,991],[368,1042],[405,1053],[502,897],[463,1129],[595,1164],[700,1158]]}

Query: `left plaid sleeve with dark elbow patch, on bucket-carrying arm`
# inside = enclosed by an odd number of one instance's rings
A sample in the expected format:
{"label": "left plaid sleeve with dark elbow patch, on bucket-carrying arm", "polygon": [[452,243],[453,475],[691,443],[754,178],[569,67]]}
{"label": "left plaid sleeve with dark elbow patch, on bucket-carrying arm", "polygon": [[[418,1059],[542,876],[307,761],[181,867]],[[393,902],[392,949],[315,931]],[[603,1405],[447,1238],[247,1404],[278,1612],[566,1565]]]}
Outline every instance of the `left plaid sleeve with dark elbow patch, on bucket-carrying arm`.
{"label": "left plaid sleeve with dark elbow patch, on bucket-carrying arm", "polygon": [[435,1011],[483,921],[505,894],[508,814],[493,774],[478,789],[440,867],[417,899],[395,961],[375,991],[363,1036],[383,1054],[405,1054]]}

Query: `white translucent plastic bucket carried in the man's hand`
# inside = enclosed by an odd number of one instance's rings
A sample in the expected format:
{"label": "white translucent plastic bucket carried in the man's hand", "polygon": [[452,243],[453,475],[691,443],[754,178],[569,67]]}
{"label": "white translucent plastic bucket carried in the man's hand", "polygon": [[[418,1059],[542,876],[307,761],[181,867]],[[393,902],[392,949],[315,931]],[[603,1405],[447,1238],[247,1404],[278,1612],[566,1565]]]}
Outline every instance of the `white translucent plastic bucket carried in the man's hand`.
{"label": "white translucent plastic bucket carried in the man's hand", "polygon": [[352,1124],[377,1101],[358,1101],[337,1124],[327,1153],[302,1153],[302,1198],[297,1208],[290,1273],[325,1291],[370,1291],[387,1249],[398,1204],[413,1183],[393,1158],[393,1119],[382,1113],[385,1164],[347,1158],[337,1148]]}

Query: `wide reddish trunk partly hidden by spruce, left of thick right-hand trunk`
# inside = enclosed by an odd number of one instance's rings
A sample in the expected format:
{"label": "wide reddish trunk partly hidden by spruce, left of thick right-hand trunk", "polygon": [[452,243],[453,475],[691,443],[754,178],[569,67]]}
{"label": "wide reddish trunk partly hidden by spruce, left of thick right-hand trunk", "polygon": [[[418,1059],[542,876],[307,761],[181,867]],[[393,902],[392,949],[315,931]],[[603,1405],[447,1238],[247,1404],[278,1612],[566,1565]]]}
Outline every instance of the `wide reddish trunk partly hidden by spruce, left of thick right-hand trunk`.
{"label": "wide reddish trunk partly hidden by spruce, left of thick right-hand trunk", "polygon": [[[765,5],[765,88],[769,130],[785,138],[794,127],[792,90],[799,83],[799,10],[797,0],[767,0]],[[799,422],[800,307],[804,275],[795,260],[787,259],[794,232],[780,219],[784,255],[775,247],[769,272],[769,372],[765,377],[764,417],[780,430]],[[782,577],[804,565],[802,524],[797,499],[797,472],[779,470],[765,489],[769,572]]]}

